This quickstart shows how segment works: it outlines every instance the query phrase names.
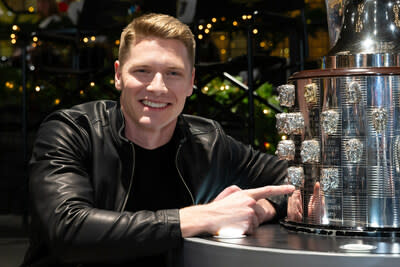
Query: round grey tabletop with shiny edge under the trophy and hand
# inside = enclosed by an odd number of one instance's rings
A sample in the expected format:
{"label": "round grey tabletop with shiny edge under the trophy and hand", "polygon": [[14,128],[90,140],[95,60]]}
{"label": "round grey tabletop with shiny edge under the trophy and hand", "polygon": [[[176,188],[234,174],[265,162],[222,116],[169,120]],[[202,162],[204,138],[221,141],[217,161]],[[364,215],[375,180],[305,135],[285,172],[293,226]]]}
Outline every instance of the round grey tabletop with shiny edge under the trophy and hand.
{"label": "round grey tabletop with shiny edge under the trophy and hand", "polygon": [[187,238],[182,258],[185,267],[400,266],[400,238],[318,235],[267,224],[243,238]]}

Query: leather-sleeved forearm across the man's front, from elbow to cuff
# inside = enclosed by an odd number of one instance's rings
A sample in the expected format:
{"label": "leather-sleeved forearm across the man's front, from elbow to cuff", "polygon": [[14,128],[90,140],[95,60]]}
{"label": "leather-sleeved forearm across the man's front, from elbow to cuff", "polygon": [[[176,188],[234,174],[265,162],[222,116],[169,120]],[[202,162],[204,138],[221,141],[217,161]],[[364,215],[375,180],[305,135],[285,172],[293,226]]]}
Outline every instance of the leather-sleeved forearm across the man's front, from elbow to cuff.
{"label": "leather-sleeved forearm across the man's front, from elbow to cuff", "polygon": [[[163,253],[181,241],[178,210],[113,212],[49,219],[47,245],[63,262],[110,262]],[[74,217],[74,218],[72,218]]]}

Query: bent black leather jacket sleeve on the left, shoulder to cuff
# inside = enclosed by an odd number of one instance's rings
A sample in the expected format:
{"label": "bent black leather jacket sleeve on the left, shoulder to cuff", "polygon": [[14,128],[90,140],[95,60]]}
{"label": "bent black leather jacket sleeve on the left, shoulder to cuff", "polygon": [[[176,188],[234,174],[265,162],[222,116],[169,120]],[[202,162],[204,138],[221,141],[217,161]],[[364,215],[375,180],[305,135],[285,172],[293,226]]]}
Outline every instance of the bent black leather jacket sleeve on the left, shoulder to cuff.
{"label": "bent black leather jacket sleeve on the left, shoulder to cuff", "polygon": [[89,135],[71,118],[55,117],[38,131],[29,178],[32,221],[38,226],[33,231],[52,257],[115,263],[178,246],[178,210],[132,213],[96,207]]}

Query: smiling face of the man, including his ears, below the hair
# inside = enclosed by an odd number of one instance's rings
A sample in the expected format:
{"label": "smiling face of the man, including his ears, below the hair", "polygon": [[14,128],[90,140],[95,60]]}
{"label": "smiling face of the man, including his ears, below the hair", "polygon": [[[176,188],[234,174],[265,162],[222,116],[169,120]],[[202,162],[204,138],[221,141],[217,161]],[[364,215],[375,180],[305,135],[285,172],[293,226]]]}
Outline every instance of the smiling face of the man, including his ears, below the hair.
{"label": "smiling face of the man, including his ears, below the hair", "polygon": [[130,48],[124,64],[115,62],[115,87],[127,123],[141,130],[175,126],[193,91],[194,69],[182,42],[147,37]]}

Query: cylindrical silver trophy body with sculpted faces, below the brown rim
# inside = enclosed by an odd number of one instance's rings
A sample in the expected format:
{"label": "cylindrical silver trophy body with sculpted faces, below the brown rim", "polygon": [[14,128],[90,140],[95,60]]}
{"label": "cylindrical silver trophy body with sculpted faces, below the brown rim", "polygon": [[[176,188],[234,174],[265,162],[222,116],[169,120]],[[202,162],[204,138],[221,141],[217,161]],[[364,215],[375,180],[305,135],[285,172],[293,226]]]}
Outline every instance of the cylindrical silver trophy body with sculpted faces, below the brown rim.
{"label": "cylindrical silver trophy body with sculpted faces, below the brown rim", "polygon": [[[304,128],[290,132],[289,165],[301,167],[304,177],[291,172],[288,182],[298,192],[289,208],[297,215],[287,222],[357,231],[400,227],[400,68],[379,71],[291,78],[296,103],[289,114],[302,114]],[[310,84],[318,91],[313,102],[306,98]]]}

